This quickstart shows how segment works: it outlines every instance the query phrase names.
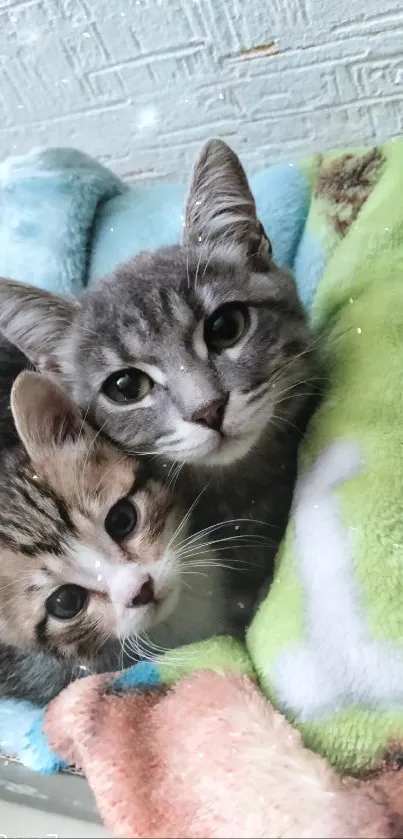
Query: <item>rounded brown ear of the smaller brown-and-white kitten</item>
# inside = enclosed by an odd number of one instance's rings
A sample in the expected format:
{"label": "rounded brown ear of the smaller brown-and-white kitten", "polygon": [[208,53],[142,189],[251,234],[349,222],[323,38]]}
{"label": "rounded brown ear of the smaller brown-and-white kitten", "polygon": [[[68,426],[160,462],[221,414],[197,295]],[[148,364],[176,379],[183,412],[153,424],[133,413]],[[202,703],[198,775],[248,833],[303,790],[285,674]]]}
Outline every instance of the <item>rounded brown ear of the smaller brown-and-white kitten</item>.
{"label": "rounded brown ear of the smaller brown-and-white kitten", "polygon": [[49,449],[76,440],[82,432],[83,420],[75,403],[41,373],[20,373],[10,404],[18,436],[34,461],[49,454]]}

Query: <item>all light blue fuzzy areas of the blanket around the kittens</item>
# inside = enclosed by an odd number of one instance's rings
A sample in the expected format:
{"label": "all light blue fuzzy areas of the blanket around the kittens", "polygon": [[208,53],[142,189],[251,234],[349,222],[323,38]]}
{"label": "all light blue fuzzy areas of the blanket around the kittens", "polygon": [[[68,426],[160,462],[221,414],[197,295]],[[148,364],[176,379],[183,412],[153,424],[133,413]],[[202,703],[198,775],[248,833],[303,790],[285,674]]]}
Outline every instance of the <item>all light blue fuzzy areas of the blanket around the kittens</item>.
{"label": "all light blue fuzzy areas of the blanket around the kittens", "polygon": [[[307,171],[274,166],[252,176],[251,187],[274,258],[293,269],[309,307],[323,257],[304,231]],[[0,166],[0,274],[79,295],[140,250],[177,242],[185,193],[181,184],[130,187],[73,149],[6,160]],[[136,672],[147,683],[148,671]],[[0,700],[0,749],[49,772],[61,764],[47,746],[42,719],[43,711],[27,702]]]}

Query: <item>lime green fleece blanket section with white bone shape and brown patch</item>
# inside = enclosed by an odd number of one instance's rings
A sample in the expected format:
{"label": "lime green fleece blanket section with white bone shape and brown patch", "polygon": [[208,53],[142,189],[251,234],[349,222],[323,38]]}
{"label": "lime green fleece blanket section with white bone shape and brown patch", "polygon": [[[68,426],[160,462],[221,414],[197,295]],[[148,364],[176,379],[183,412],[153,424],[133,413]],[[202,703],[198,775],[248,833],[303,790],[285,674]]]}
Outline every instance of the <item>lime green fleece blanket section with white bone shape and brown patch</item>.
{"label": "lime green fleece blanket section with white bone shape and brown patch", "polygon": [[308,169],[328,388],[248,647],[306,743],[355,770],[403,734],[403,145]]}

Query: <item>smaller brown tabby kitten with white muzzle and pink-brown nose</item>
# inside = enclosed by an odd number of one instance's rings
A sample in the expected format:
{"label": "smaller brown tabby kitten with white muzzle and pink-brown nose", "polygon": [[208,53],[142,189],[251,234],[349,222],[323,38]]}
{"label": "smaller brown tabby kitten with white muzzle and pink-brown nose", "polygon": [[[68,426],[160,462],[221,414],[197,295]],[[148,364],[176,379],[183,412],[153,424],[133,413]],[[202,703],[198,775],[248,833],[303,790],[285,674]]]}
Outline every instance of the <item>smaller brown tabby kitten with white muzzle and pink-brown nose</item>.
{"label": "smaller brown tabby kitten with white muzzle and pink-brown nose", "polygon": [[223,631],[224,600],[214,565],[183,584],[195,541],[169,487],[26,366],[0,342],[0,697],[42,704],[85,667]]}

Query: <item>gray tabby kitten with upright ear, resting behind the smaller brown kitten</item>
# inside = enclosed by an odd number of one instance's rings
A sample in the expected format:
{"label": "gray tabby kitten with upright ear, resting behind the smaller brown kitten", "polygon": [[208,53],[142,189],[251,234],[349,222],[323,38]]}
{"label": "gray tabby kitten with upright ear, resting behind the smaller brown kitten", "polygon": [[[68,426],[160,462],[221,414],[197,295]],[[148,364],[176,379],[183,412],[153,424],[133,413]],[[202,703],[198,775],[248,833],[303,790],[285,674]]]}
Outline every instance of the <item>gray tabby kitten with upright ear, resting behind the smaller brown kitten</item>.
{"label": "gray tabby kitten with upright ear, resting behind the smaller brown kitten", "polygon": [[197,529],[260,534],[260,550],[245,541],[229,555],[248,569],[234,577],[235,623],[247,622],[287,521],[314,365],[237,156],[219,140],[203,149],[181,244],[140,254],[79,301],[3,281],[0,327],[125,451],[186,464],[188,502],[202,491]]}

